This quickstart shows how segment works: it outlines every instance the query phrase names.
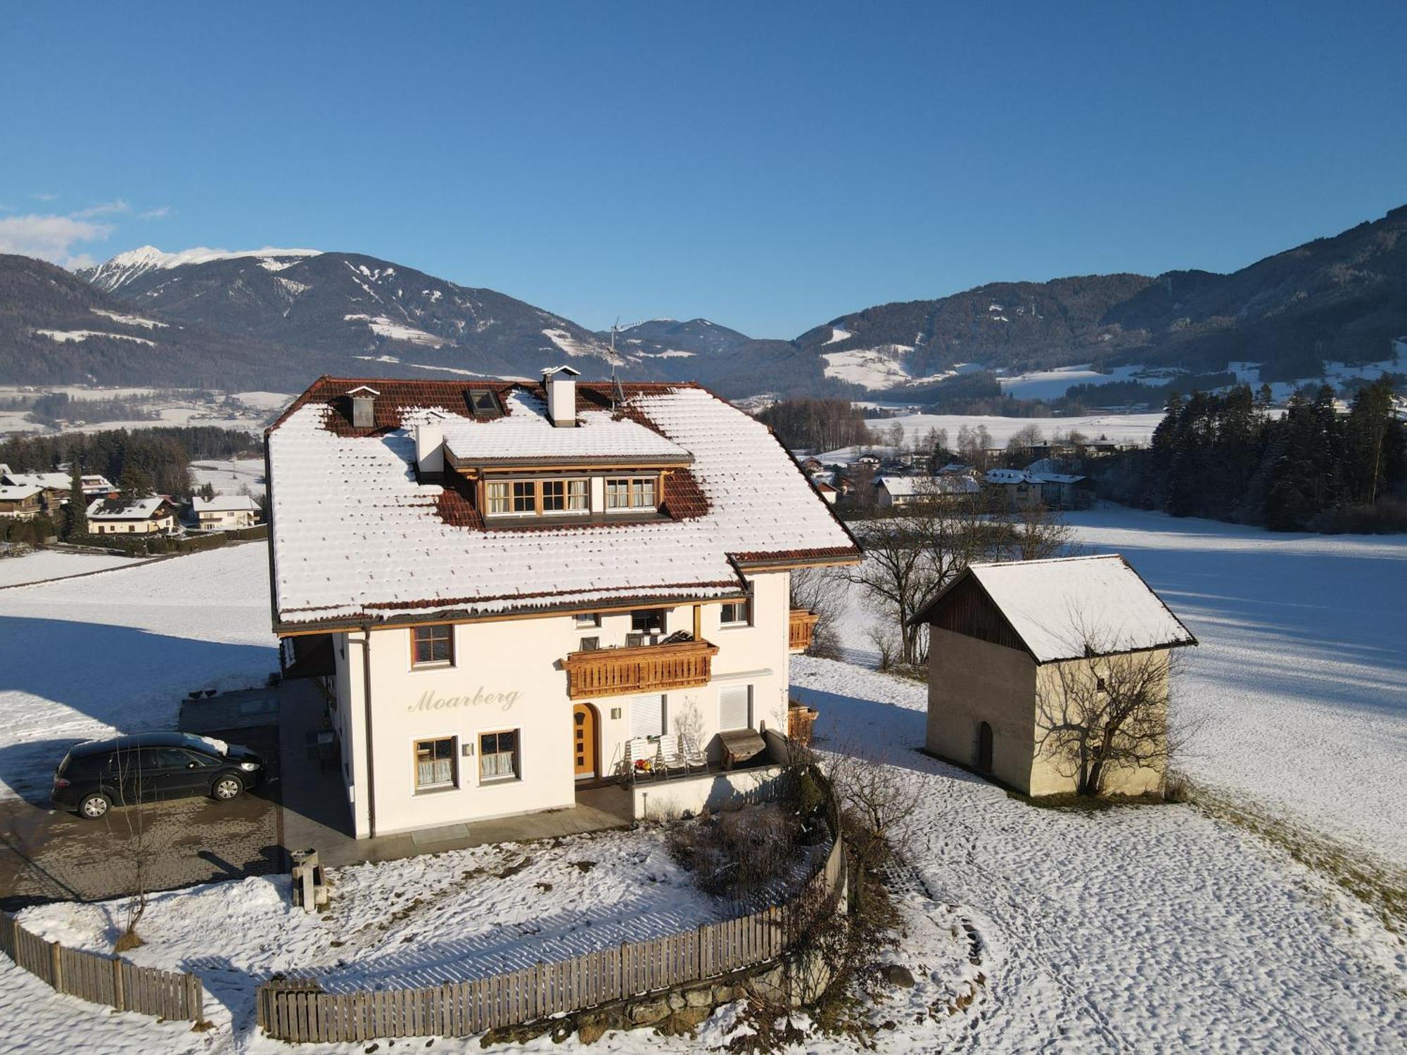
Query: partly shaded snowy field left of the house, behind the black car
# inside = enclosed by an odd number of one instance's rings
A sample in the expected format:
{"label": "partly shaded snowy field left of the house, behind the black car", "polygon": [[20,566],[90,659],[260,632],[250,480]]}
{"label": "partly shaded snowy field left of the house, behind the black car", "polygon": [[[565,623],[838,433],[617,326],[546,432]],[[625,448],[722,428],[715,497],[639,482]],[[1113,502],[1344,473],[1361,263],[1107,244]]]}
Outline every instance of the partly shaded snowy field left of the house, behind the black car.
{"label": "partly shaded snowy field left of the house, behind the black car", "polygon": [[276,670],[265,543],[0,591],[0,798],[44,791],[75,743],[172,729],[190,689]]}

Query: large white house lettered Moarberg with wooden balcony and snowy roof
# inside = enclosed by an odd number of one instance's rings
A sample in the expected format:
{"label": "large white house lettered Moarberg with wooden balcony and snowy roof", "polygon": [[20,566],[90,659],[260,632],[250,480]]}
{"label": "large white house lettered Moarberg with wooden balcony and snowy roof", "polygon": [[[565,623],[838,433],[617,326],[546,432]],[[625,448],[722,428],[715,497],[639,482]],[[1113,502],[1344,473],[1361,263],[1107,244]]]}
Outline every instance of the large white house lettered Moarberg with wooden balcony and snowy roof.
{"label": "large white house lettered Moarberg with wooden balcony and snowy roof", "polygon": [[602,778],[696,810],[785,750],[791,571],[854,539],[744,412],[575,374],[324,377],[267,432],[274,632],[324,679],[357,837]]}

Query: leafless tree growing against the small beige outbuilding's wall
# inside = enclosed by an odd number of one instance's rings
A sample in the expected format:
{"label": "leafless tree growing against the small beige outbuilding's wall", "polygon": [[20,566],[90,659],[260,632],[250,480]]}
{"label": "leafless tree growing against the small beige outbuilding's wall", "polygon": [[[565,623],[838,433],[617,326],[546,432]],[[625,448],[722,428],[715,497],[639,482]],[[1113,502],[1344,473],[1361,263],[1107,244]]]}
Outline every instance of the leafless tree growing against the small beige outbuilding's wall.
{"label": "leafless tree growing against the small beige outbuilding's wall", "polygon": [[1079,795],[1103,795],[1119,772],[1166,774],[1197,729],[1169,719],[1173,653],[1117,651],[1089,630],[1081,630],[1079,648],[1083,658],[1048,664],[1037,681],[1038,754]]}

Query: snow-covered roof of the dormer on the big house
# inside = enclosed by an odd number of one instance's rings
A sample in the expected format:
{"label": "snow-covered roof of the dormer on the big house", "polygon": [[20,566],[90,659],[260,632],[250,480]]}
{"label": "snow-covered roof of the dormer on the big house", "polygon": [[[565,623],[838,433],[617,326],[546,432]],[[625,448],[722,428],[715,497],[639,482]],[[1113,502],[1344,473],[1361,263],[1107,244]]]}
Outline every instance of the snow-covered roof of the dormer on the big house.
{"label": "snow-covered roof of the dormer on the big house", "polygon": [[684,447],[609,408],[582,411],[567,429],[554,426],[547,405],[522,390],[504,399],[504,416],[487,421],[443,415],[445,449],[454,464],[605,460],[687,466],[691,460]]}

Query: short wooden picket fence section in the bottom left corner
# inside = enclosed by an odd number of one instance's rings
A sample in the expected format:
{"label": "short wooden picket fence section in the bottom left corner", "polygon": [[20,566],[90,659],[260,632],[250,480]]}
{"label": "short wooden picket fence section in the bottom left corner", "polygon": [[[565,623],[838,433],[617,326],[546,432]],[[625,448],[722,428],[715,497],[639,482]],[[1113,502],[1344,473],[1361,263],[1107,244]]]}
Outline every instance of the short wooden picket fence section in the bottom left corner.
{"label": "short wooden picket fence section in the bottom left corner", "polygon": [[136,966],[121,957],[45,941],[10,913],[0,913],[0,952],[59,993],[118,1011],[194,1023],[204,1017],[205,990],[196,975]]}

